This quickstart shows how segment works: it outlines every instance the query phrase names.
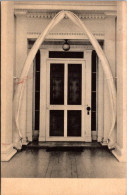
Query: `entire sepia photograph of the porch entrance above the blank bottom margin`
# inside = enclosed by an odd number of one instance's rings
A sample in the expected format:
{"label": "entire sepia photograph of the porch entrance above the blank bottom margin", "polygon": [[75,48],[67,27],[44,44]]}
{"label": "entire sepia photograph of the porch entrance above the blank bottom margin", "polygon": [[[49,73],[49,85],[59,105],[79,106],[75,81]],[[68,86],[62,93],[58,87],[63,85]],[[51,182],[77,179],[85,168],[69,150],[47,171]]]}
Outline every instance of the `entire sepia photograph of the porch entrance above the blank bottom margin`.
{"label": "entire sepia photograph of the porch entrance above the blank bottom margin", "polygon": [[126,178],[126,8],[2,1],[1,178]]}

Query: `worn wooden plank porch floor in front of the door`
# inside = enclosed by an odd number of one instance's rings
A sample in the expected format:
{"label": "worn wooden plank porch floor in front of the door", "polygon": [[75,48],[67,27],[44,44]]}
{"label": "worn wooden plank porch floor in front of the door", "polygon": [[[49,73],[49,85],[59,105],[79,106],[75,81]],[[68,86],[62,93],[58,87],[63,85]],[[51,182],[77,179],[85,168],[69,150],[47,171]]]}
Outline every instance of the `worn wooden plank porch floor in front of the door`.
{"label": "worn wooden plank porch floor in front of the door", "polygon": [[28,148],[1,163],[1,177],[124,178],[126,163],[118,162],[103,147],[70,151]]}

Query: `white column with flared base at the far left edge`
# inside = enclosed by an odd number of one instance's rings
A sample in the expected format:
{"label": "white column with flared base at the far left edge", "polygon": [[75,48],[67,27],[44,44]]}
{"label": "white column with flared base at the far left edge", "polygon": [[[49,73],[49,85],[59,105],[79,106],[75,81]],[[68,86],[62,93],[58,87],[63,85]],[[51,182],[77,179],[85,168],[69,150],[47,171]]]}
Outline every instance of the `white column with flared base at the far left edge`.
{"label": "white column with flared base at the far left edge", "polygon": [[12,136],[13,68],[15,64],[14,2],[1,2],[1,160],[8,161],[16,153]]}

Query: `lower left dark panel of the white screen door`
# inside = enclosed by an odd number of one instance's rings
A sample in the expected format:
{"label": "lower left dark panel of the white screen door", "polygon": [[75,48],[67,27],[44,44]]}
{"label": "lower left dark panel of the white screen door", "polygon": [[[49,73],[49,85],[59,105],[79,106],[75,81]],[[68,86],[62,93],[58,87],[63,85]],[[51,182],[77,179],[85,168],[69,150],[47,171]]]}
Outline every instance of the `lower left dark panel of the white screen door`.
{"label": "lower left dark panel of the white screen door", "polygon": [[50,136],[64,136],[64,110],[50,110]]}

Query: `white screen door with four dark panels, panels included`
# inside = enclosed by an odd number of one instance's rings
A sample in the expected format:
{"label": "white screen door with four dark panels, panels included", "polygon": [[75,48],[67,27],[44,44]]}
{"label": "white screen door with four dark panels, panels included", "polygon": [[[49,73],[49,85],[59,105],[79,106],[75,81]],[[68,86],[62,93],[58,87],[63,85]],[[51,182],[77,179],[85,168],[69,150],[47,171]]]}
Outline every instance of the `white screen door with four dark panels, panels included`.
{"label": "white screen door with four dark panels, panels included", "polygon": [[85,60],[50,60],[46,69],[46,141],[87,140],[91,78]]}

